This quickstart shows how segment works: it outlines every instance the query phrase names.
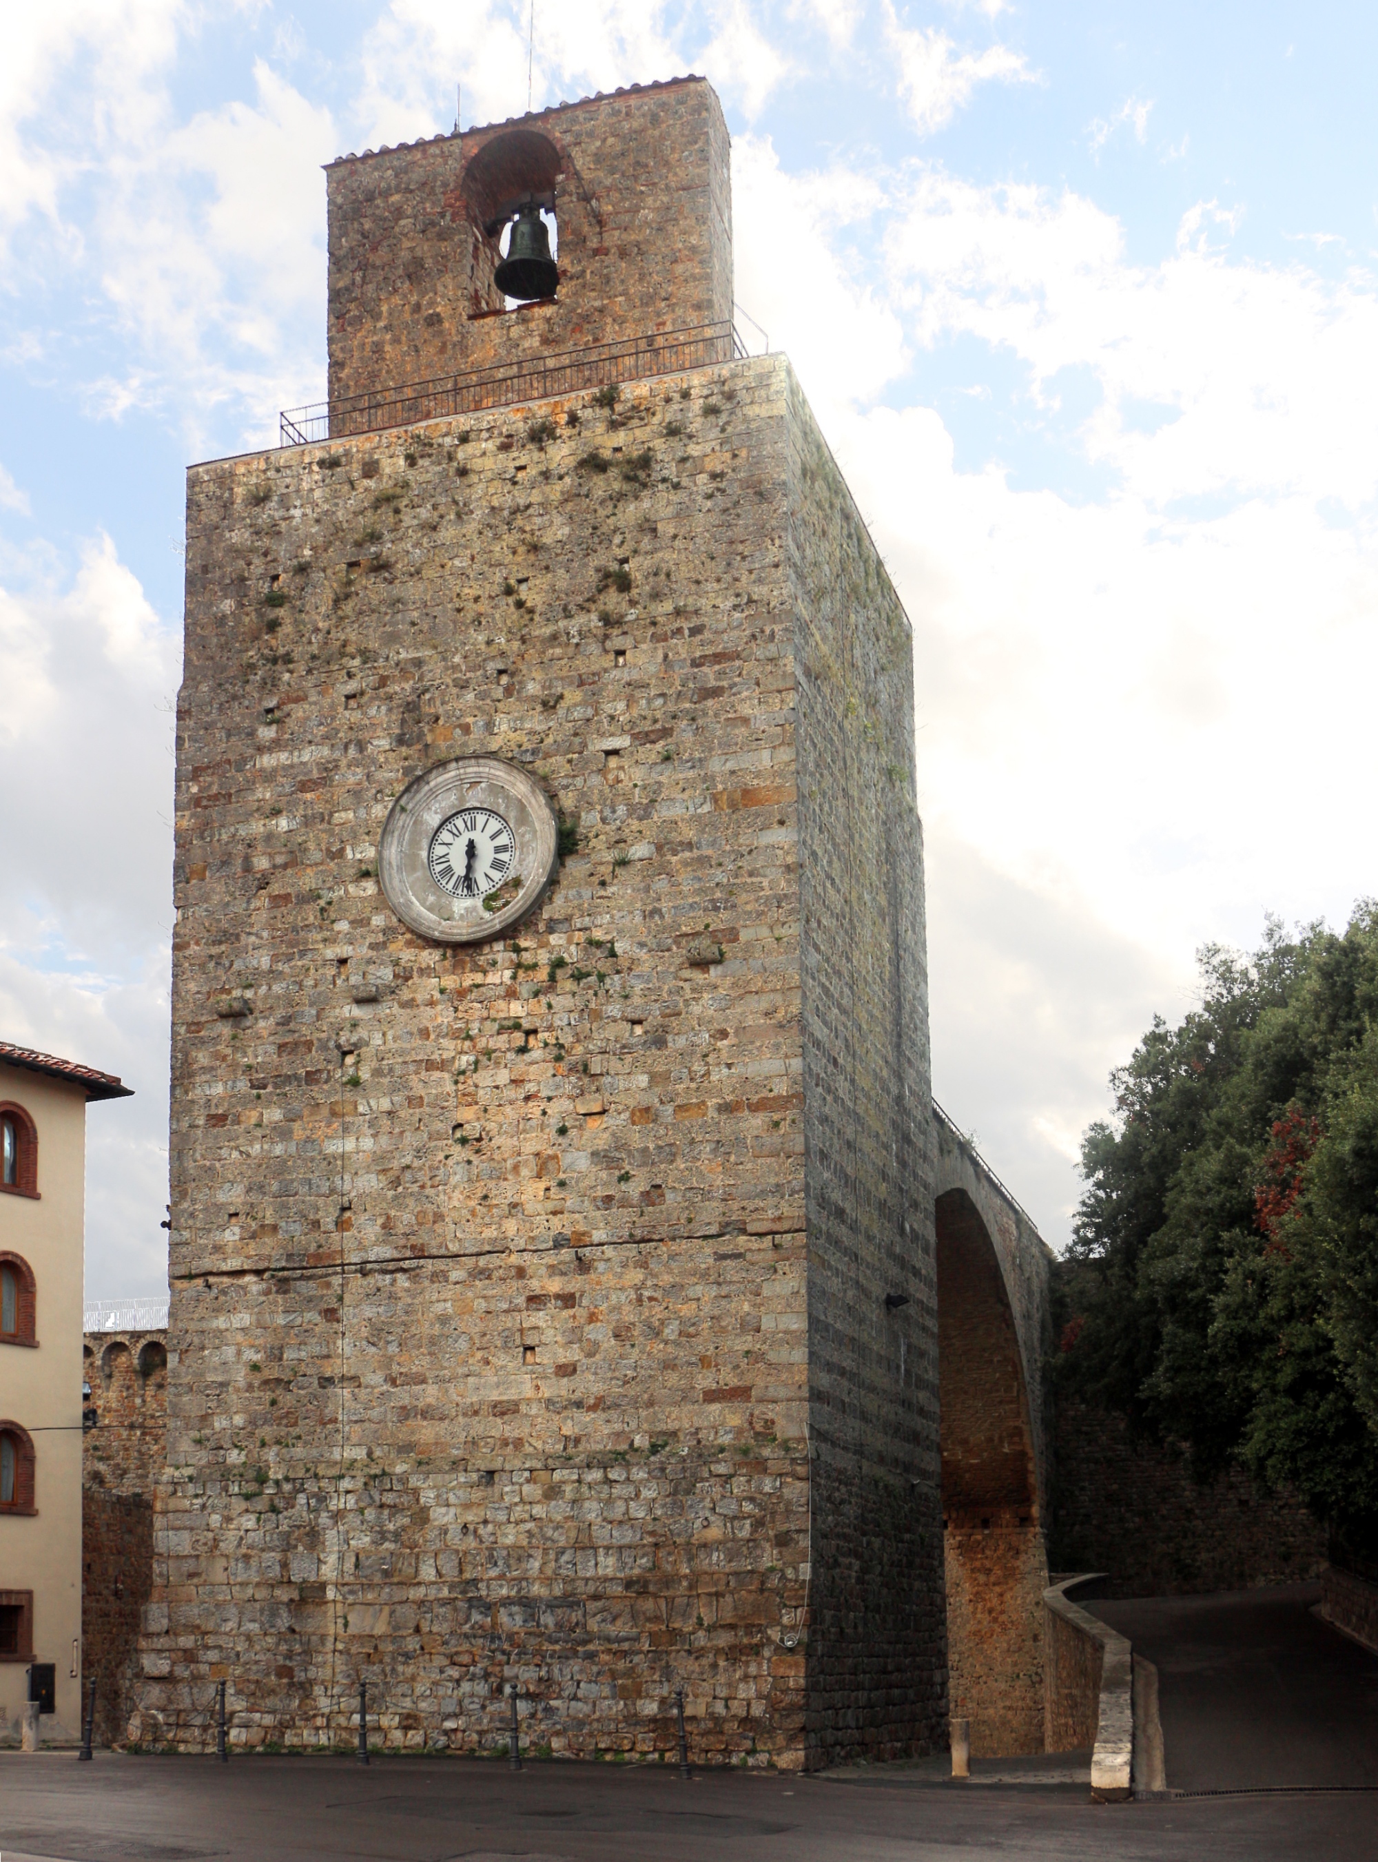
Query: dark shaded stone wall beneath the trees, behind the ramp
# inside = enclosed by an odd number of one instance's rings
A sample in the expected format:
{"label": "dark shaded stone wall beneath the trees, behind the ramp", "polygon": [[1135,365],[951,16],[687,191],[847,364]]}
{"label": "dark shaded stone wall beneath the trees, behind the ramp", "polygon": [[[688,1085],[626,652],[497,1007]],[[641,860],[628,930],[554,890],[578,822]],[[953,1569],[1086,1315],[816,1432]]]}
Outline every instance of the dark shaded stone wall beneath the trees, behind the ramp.
{"label": "dark shaded stone wall beneath the trees, behind the ramp", "polygon": [[1242,1467],[1197,1484],[1182,1454],[1069,1398],[1056,1406],[1054,1449],[1052,1564],[1106,1572],[1110,1598],[1289,1585],[1326,1564],[1324,1527],[1302,1501]]}

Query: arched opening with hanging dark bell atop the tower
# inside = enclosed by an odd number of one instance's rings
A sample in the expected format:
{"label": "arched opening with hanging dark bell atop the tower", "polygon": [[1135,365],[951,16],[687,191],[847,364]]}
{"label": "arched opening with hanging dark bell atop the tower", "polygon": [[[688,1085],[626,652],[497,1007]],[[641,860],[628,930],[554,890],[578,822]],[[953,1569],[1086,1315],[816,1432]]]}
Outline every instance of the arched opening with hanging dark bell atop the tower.
{"label": "arched opening with hanging dark bell atop the tower", "polygon": [[475,229],[475,311],[555,296],[561,169],[555,143],[531,128],[493,136],[466,166],[462,196]]}

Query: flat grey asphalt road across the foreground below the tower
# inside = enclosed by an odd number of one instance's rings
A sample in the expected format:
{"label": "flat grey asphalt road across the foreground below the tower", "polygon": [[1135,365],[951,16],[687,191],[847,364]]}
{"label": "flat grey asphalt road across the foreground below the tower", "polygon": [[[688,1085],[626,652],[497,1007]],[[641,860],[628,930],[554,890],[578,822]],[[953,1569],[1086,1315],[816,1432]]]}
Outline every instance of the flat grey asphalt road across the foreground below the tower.
{"label": "flat grey asphalt road across the foreground below the tower", "polygon": [[0,1855],[61,1862],[1372,1862],[1378,1799],[469,1760],[0,1754]]}

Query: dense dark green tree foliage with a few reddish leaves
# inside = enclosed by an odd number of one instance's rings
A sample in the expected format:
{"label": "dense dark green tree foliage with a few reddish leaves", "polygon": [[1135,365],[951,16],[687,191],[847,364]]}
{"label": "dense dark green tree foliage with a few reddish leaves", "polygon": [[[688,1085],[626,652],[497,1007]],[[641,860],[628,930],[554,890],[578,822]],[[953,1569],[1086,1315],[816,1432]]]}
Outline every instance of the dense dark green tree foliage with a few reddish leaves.
{"label": "dense dark green tree foliage with a few reddish leaves", "polygon": [[1199,953],[1082,1145],[1058,1378],[1378,1540],[1378,905]]}

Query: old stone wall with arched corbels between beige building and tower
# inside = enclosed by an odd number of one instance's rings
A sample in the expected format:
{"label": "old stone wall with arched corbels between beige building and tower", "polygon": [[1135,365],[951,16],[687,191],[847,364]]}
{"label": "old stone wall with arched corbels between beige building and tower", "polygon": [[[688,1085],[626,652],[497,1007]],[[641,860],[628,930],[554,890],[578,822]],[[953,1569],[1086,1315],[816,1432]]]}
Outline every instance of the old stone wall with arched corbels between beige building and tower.
{"label": "old stone wall with arched corbels between beige building and tower", "polygon": [[153,1590],[153,1495],[168,1439],[162,1331],[88,1331],[82,1404],[82,1685],[97,1683],[95,1735],[125,1734]]}

